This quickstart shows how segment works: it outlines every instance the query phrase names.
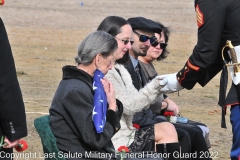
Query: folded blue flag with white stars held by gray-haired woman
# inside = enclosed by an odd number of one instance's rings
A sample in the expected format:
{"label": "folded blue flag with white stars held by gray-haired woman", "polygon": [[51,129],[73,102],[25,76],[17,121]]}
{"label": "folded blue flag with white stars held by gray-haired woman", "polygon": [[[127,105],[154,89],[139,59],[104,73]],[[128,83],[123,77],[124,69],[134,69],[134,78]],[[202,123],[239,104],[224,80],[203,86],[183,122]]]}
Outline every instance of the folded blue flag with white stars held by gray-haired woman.
{"label": "folded blue flag with white stars held by gray-haired woman", "polygon": [[100,70],[96,70],[93,76],[93,115],[92,120],[97,133],[102,133],[104,125],[106,123],[106,112],[107,112],[107,97],[103,89],[102,82],[100,79],[104,77],[104,74]]}

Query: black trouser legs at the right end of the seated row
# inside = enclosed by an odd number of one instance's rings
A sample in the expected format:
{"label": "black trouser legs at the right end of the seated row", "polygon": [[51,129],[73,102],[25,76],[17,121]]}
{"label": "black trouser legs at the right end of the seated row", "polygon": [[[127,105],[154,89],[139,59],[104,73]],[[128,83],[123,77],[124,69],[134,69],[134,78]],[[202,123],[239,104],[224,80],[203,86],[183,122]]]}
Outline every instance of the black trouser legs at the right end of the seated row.
{"label": "black trouser legs at the right end of the seated row", "polygon": [[197,160],[197,159],[211,160],[212,159],[211,157],[205,156],[210,154],[206,154],[207,152],[209,152],[209,150],[200,128],[195,126],[189,126],[187,124],[181,124],[181,123],[175,123],[174,126],[177,130],[181,129],[186,131],[189,134],[189,137],[191,139],[191,153],[197,155],[197,158],[194,157],[194,160]]}

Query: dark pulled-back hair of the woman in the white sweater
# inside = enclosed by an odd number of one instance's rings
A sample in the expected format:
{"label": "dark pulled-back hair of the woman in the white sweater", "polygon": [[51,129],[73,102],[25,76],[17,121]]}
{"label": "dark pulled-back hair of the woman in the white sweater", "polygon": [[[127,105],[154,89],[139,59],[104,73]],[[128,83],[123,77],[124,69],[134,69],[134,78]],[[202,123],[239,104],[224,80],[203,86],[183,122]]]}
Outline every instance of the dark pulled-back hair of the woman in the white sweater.
{"label": "dark pulled-back hair of the woman in the white sweater", "polygon": [[[127,20],[118,16],[108,16],[106,17],[98,26],[97,30],[105,31],[115,37],[117,34],[121,33],[121,27],[129,24]],[[126,54],[125,54],[126,55]],[[116,63],[124,64],[127,58],[121,58],[116,60]]]}

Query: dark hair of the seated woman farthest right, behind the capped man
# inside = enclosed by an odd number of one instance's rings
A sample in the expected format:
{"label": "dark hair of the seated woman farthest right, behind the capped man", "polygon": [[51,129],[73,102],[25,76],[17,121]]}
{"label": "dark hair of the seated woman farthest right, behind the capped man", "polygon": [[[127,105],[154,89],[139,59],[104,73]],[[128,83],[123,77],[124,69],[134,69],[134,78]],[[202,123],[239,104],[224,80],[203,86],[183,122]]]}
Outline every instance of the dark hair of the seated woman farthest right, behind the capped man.
{"label": "dark hair of the seated woman farthest right, behind the capped man", "polygon": [[[170,29],[168,27],[164,26],[160,22],[156,22],[156,23],[162,28],[162,32],[163,32],[163,35],[165,37],[165,43],[167,43],[168,40],[169,40],[169,36],[170,36]],[[165,59],[168,56],[169,53],[170,52],[167,50],[167,48],[164,48],[163,51],[162,51],[162,54],[157,58],[157,61]]]}

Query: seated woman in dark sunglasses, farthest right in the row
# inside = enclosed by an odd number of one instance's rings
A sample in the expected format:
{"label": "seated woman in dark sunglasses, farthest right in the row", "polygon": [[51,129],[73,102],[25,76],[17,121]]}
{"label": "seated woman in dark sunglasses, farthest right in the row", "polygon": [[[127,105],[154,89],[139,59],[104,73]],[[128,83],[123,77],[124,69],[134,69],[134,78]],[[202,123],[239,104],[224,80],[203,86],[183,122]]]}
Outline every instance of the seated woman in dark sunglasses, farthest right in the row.
{"label": "seated woman in dark sunglasses, farthest right in the row", "polygon": [[[147,55],[144,57],[138,57],[140,61],[140,66],[143,69],[143,72],[148,82],[150,82],[158,75],[156,69],[154,68],[153,61],[160,61],[162,59],[165,59],[169,54],[169,51],[166,47],[169,40],[170,31],[161,23],[156,23],[161,26],[162,32],[160,34],[155,33],[155,37],[157,38],[157,40],[152,43],[152,46],[148,49]],[[150,108],[155,114],[158,115],[163,115],[165,111],[172,111],[175,115],[179,112],[179,107],[165,94],[159,96],[157,101],[154,104],[151,104]],[[191,138],[191,152],[195,153],[201,151],[208,151],[207,148],[210,148],[210,142],[209,129],[206,125],[189,120],[187,125],[174,124],[174,126],[176,127],[178,134],[179,130],[184,130],[189,133]],[[203,137],[205,138],[205,141]]]}

